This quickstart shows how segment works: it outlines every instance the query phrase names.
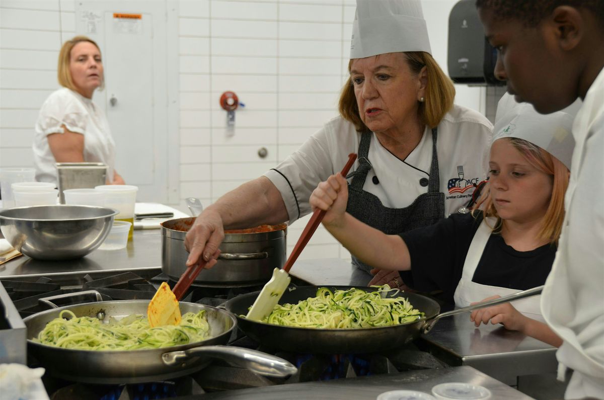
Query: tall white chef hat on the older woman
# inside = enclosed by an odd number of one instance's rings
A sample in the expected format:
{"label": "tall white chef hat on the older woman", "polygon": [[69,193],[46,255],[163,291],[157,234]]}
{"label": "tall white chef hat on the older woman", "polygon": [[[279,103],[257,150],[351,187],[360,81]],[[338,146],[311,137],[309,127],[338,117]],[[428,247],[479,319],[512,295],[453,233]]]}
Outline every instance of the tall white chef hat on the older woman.
{"label": "tall white chef hat on the older woman", "polygon": [[419,0],[356,0],[350,59],[400,51],[431,54]]}

